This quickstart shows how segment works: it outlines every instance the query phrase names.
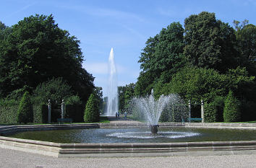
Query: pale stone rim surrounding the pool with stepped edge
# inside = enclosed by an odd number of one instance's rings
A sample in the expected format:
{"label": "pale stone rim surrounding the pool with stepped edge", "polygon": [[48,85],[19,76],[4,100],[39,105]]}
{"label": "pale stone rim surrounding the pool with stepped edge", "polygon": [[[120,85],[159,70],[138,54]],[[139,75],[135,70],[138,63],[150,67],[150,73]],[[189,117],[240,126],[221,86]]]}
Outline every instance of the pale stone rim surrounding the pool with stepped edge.
{"label": "pale stone rim surrounding the pool with stepped edge", "polygon": [[[256,130],[256,123],[159,123],[161,127]],[[79,128],[140,128],[147,123],[86,123],[1,125],[0,147],[55,157],[122,157],[256,154],[256,141],[202,141],[176,143],[54,143],[2,135],[18,131]]]}

